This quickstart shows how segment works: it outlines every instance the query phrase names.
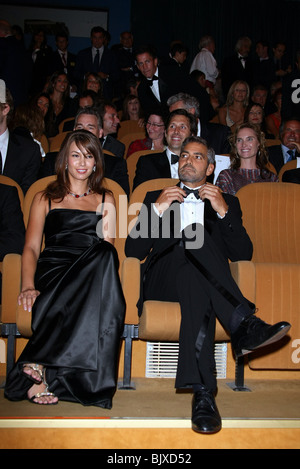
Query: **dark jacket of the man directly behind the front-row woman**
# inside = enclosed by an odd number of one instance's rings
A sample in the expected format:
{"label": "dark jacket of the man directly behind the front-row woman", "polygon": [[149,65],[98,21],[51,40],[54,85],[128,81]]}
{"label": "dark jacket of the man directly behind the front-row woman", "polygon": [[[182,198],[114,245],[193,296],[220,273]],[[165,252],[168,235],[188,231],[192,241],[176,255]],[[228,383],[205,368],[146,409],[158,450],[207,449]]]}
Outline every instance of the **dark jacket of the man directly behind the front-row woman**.
{"label": "dark jacket of the man directly behind the front-row woman", "polygon": [[[44,158],[39,172],[39,179],[55,174],[55,160],[58,152],[49,152]],[[129,195],[127,163],[124,158],[104,153],[105,177],[117,182]]]}

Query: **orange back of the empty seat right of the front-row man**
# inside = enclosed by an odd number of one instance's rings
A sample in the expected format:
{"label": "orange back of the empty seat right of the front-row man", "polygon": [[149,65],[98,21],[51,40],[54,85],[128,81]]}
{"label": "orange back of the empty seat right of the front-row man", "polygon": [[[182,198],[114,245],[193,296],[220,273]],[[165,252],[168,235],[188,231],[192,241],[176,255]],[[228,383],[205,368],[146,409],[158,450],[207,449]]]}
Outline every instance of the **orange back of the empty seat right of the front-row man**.
{"label": "orange back of the empty seat right of the front-row man", "polygon": [[253,242],[253,262],[300,263],[300,186],[248,184],[236,196]]}

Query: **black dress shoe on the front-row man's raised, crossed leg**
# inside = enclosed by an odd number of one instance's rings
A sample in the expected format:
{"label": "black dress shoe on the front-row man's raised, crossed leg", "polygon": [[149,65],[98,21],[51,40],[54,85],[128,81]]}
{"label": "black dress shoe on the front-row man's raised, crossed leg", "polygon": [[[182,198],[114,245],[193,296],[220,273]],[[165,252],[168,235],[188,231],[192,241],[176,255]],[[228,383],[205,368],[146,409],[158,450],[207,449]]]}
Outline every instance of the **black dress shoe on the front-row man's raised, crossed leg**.
{"label": "black dress shoe on the front-row man's raised, crossed leg", "polygon": [[290,328],[291,325],[285,321],[272,326],[254,315],[249,316],[231,335],[232,348],[235,355],[241,357],[260,347],[277,342],[287,334]]}

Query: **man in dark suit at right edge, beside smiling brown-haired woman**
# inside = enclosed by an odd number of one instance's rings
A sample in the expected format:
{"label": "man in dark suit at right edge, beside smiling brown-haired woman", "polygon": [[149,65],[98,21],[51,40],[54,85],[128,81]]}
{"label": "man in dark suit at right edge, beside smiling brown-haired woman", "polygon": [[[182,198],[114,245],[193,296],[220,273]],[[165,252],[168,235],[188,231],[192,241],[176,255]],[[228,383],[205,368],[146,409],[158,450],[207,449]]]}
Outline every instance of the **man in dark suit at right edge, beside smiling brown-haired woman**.
{"label": "man in dark suit at right edge, beside smiling brown-haired woman", "polygon": [[281,145],[268,147],[270,163],[279,173],[282,166],[300,157],[300,119],[282,121],[279,128]]}

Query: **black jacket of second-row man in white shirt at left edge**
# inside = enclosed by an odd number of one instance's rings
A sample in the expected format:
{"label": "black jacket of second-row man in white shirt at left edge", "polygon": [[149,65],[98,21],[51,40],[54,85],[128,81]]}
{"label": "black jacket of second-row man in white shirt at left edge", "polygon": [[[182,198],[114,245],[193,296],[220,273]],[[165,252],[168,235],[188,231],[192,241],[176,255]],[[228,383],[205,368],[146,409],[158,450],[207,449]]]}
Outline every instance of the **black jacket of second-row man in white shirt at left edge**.
{"label": "black jacket of second-row man in white shirt at left edge", "polygon": [[3,175],[16,181],[24,194],[37,180],[41,160],[40,147],[32,138],[9,133]]}

